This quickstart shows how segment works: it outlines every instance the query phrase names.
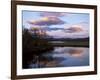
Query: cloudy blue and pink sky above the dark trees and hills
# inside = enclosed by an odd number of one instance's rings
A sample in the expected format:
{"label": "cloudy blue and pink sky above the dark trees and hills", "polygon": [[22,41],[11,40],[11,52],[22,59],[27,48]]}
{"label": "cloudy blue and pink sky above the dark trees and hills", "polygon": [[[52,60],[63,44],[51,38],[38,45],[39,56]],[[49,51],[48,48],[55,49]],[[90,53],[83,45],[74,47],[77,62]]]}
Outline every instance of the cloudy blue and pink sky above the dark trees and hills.
{"label": "cloudy blue and pink sky above the dark trees and hills", "polygon": [[38,27],[53,38],[89,37],[89,14],[71,12],[22,11],[23,27]]}

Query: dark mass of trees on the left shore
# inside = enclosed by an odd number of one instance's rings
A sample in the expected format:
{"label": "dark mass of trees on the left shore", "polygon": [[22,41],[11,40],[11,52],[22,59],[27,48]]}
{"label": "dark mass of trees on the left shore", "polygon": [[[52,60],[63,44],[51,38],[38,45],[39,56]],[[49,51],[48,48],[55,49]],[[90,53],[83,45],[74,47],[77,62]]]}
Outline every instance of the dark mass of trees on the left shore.
{"label": "dark mass of trees on the left shore", "polygon": [[28,63],[38,56],[42,59],[42,53],[52,51],[54,48],[48,42],[38,36],[38,34],[32,35],[28,29],[23,30],[22,35],[22,49],[23,49],[23,68],[28,68]]}

